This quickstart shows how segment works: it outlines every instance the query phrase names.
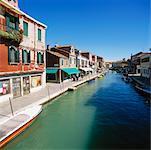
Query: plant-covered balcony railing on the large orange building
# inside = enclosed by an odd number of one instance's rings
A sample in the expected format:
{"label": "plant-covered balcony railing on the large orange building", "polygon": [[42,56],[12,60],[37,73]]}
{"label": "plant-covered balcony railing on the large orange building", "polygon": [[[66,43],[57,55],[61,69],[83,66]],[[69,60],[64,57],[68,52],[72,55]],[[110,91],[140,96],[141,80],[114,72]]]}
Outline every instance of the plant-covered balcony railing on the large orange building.
{"label": "plant-covered balcony railing on the large orange building", "polygon": [[23,30],[16,30],[9,26],[0,24],[0,38],[3,40],[14,41],[19,44],[23,39]]}

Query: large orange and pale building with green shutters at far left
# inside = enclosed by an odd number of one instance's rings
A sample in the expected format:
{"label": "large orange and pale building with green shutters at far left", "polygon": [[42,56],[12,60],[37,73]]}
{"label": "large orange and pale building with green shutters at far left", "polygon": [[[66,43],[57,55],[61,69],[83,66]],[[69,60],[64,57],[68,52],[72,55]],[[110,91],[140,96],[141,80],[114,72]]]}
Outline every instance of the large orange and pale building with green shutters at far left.
{"label": "large orange and pale building with green shutters at far left", "polygon": [[17,0],[0,1],[0,102],[45,86],[45,30]]}

